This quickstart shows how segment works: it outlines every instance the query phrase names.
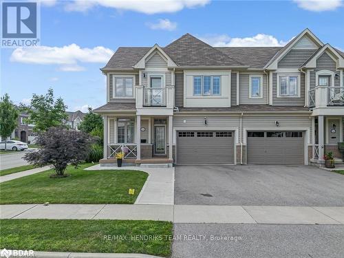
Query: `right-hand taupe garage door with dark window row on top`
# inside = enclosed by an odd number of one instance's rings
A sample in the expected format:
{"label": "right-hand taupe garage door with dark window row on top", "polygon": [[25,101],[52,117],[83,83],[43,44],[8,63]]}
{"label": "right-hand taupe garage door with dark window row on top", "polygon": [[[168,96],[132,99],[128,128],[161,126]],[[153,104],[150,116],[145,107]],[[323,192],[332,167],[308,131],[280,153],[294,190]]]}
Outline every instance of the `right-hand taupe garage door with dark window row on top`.
{"label": "right-hand taupe garage door with dark window row on top", "polygon": [[304,164],[303,131],[249,131],[248,164]]}

